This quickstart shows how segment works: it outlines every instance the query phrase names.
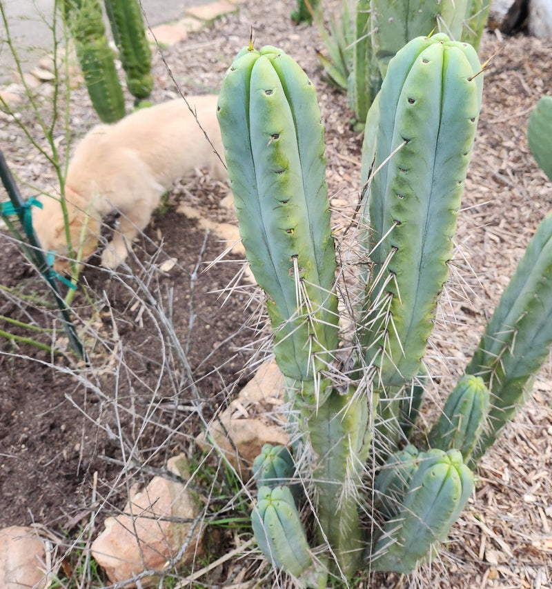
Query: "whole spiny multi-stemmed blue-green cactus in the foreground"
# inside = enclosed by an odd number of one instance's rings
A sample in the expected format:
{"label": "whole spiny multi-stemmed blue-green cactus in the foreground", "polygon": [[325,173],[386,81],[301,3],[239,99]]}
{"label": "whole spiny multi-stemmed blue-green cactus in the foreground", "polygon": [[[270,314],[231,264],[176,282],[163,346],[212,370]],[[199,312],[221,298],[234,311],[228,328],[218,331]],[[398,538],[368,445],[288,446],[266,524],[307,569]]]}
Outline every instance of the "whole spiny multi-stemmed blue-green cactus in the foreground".
{"label": "whole spiny multi-stemmed blue-green cactus in the foreground", "polygon": [[[494,441],[552,343],[551,216],[442,417],[427,436],[414,436],[429,448],[413,446],[408,436],[428,379],[422,359],[447,279],[481,97],[475,50],[444,34],[417,37],[389,61],[366,119],[361,300],[356,345],[346,342],[357,355],[342,368],[315,90],[293,59],[270,46],[244,48],[226,73],[218,117],[239,230],[266,294],[296,430],[295,459],[266,447],[255,461],[253,530],[264,555],[299,586],[325,586],[325,575],[348,581],[362,566],[408,573],[431,555],[473,490],[464,460],[475,463]],[[263,478],[265,466],[273,481]],[[294,468],[302,468],[315,512],[310,545],[311,526],[307,534],[290,491]],[[366,471],[374,469],[365,493]],[[373,529],[382,533],[363,529],[360,510],[375,515]],[[315,545],[317,559],[308,548]]]}

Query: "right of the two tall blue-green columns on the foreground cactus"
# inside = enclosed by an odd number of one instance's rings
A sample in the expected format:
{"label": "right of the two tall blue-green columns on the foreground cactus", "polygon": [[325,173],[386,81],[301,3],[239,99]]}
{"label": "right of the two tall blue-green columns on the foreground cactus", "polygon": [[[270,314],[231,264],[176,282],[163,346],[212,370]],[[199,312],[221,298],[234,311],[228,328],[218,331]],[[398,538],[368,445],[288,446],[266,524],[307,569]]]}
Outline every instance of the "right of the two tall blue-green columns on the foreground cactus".
{"label": "right of the two tall blue-green columns on the foreground cactus", "polygon": [[361,341],[383,390],[417,375],[433,329],[481,105],[478,72],[470,46],[444,34],[418,37],[389,64],[377,131],[366,124],[367,136],[375,135],[374,166],[383,167],[363,219],[373,267]]}

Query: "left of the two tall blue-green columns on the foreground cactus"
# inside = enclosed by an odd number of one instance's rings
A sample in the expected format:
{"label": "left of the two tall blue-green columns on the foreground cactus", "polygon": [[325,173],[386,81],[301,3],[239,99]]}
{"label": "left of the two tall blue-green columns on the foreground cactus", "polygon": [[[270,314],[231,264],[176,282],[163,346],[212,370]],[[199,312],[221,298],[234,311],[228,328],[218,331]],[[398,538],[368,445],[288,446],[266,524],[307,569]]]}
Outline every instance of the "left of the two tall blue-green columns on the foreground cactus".
{"label": "left of the two tall blue-green columns on the foreground cactus", "polygon": [[284,52],[245,48],[218,115],[251,270],[268,297],[278,366],[319,402],[337,349],[335,248],[315,88]]}

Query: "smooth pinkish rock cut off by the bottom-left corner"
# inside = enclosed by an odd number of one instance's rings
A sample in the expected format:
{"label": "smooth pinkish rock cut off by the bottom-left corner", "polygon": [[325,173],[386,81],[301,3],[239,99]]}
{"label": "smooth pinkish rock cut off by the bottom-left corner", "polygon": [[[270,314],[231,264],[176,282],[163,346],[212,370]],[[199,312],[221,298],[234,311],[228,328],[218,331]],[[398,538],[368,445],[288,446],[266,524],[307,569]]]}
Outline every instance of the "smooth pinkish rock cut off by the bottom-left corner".
{"label": "smooth pinkish rock cut off by the bottom-left corner", "polygon": [[46,548],[37,530],[12,526],[0,530],[0,587],[44,589],[48,583]]}

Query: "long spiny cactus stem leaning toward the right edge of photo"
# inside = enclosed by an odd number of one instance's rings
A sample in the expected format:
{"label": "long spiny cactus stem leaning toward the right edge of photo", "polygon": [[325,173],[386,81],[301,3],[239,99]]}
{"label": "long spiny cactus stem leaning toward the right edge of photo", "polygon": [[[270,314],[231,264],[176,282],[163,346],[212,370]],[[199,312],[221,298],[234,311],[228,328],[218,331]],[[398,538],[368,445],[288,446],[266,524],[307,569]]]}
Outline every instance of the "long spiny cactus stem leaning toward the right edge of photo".
{"label": "long spiny cactus stem leaning toward the right edge of photo", "polygon": [[466,367],[491,393],[489,419],[471,460],[514,417],[552,344],[552,214],[540,223]]}

